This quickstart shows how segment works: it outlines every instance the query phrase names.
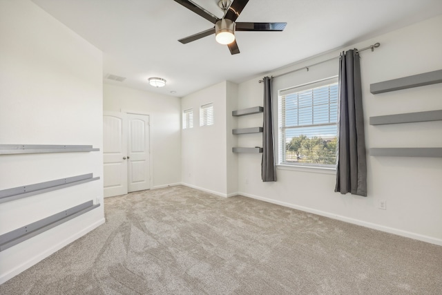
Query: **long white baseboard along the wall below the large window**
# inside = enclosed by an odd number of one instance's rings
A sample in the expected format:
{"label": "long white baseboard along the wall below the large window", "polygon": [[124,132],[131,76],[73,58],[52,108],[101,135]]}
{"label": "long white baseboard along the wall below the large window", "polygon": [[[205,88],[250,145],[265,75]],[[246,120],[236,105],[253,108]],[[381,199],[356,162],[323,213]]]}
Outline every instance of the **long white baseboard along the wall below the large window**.
{"label": "long white baseboard along the wall below the large window", "polygon": [[328,217],[328,218],[332,218],[332,219],[336,219],[336,220],[341,220],[341,221],[344,221],[344,222],[349,222],[349,223],[352,223],[354,225],[361,225],[362,227],[368,227],[369,229],[377,229],[378,231],[385,231],[387,233],[395,234],[397,236],[404,236],[405,238],[412,238],[414,240],[421,240],[423,242],[430,242],[431,244],[442,246],[442,239],[439,239],[439,238],[433,238],[431,236],[424,236],[424,235],[421,235],[421,234],[413,233],[411,231],[404,231],[402,229],[395,229],[393,227],[385,227],[384,225],[377,225],[376,223],[367,222],[367,221],[363,221],[363,220],[358,220],[358,219],[354,219],[354,218],[349,218],[349,217],[346,217],[346,216],[341,216],[341,215],[334,214],[334,213],[329,213],[329,212],[326,212],[326,211],[320,211],[320,210],[312,209],[312,208],[309,208],[309,207],[303,207],[303,206],[299,206],[299,205],[296,205],[296,204],[290,204],[290,203],[287,203],[287,202],[281,202],[281,201],[278,201],[278,200],[272,200],[272,199],[269,199],[269,198],[263,198],[263,197],[260,197],[260,196],[254,196],[254,195],[251,195],[250,193],[238,192],[237,194],[240,195],[240,196],[247,197],[247,198],[261,200],[261,201],[269,202],[269,203],[272,203],[272,204],[278,204],[278,205],[281,205],[281,206],[284,206],[284,207],[289,207],[289,208],[297,209],[297,210],[300,210],[300,211],[314,213],[316,215],[325,216],[325,217]]}

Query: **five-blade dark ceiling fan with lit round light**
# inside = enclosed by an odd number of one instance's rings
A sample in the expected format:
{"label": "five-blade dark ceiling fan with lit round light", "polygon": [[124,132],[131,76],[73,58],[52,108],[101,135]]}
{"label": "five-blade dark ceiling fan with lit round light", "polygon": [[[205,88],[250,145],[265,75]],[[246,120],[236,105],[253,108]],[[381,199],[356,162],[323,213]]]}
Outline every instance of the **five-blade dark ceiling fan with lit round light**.
{"label": "five-blade dark ceiling fan with lit round light", "polygon": [[287,23],[241,23],[236,22],[236,19],[240,16],[240,13],[246,6],[249,0],[220,0],[218,2],[218,6],[224,12],[224,17],[222,19],[218,19],[215,15],[211,14],[204,8],[198,6],[190,0],[175,0],[175,2],[180,3],[185,8],[192,10],[197,15],[204,17],[211,23],[214,23],[215,26],[210,28],[209,30],[204,30],[202,32],[198,32],[195,35],[191,35],[189,37],[185,37],[180,39],[182,44],[187,44],[191,41],[195,41],[201,39],[202,37],[206,37],[212,34],[215,34],[215,39],[220,44],[227,44],[229,46],[230,53],[232,55],[236,55],[240,53],[240,49],[238,48],[238,44],[235,39],[236,31],[282,31],[284,30]]}

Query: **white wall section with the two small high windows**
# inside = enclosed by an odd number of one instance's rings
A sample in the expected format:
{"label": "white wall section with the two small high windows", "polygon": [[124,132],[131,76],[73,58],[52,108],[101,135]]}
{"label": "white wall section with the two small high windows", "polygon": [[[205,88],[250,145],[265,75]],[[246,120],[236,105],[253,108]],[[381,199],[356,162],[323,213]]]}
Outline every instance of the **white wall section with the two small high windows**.
{"label": "white wall section with the two small high windows", "polygon": [[[182,182],[227,196],[227,82],[182,97],[181,108],[193,108],[193,128],[182,130]],[[213,102],[213,125],[200,126],[200,106]]]}

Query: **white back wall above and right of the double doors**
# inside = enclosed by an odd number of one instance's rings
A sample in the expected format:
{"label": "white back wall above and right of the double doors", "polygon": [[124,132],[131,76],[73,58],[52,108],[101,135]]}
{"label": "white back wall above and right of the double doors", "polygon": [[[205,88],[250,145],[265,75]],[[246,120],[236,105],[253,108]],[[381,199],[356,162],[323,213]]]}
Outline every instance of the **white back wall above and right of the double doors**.
{"label": "white back wall above and right of the double doors", "polygon": [[103,109],[149,115],[152,188],[181,182],[180,98],[104,84]]}

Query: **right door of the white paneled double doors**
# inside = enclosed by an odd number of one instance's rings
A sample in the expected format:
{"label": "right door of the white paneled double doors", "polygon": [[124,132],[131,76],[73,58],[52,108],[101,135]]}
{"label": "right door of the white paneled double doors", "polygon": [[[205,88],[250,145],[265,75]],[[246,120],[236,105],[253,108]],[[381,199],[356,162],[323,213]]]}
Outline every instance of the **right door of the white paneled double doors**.
{"label": "right door of the white paneled double doors", "polygon": [[149,116],[128,114],[128,191],[151,188]]}

